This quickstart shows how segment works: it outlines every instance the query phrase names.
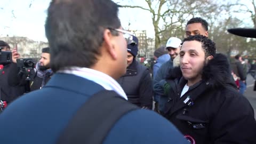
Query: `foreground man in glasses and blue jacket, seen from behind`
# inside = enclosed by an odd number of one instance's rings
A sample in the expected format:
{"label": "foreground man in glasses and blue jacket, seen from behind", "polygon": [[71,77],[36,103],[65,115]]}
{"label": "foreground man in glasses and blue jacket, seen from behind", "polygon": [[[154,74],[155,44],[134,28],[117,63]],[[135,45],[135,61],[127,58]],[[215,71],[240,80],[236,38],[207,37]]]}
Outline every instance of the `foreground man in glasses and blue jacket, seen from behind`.
{"label": "foreground man in glasses and blue jacket, seen from behind", "polygon": [[[2,143],[187,143],[165,118],[126,101],[115,81],[126,73],[131,44],[117,15],[110,0],[50,3],[45,32],[55,74],[3,111]],[[125,106],[136,109],[109,124]]]}

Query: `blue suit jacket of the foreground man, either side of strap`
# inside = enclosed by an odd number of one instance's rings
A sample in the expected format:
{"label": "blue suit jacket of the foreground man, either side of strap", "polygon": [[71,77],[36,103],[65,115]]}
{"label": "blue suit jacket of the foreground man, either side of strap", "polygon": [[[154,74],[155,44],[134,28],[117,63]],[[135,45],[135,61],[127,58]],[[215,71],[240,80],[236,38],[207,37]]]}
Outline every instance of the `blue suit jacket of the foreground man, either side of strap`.
{"label": "blue suit jacket of the foreground man, either side of strap", "polygon": [[[1,143],[55,143],[79,107],[100,90],[101,85],[88,79],[55,74],[43,89],[23,95],[3,111]],[[154,111],[139,109],[119,119],[103,143],[187,141],[165,118]]]}

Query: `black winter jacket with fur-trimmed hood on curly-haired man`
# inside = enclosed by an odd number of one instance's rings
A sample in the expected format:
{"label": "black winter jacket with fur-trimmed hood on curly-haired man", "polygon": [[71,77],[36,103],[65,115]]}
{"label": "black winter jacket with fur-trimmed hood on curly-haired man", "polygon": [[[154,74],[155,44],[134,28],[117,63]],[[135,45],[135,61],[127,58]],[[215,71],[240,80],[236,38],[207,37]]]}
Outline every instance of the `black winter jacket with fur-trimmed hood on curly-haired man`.
{"label": "black winter jacket with fur-trimmed hood on curly-haired man", "polygon": [[186,138],[196,143],[256,143],[253,108],[231,81],[225,55],[215,54],[203,68],[202,81],[182,97],[187,80],[179,67],[170,74],[162,82],[163,93],[169,97],[163,115]]}

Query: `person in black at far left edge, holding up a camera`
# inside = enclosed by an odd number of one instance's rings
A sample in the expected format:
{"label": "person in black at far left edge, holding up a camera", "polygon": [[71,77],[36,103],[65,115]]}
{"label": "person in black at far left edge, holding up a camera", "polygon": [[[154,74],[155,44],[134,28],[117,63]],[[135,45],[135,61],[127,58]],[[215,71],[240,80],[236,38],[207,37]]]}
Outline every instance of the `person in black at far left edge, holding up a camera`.
{"label": "person in black at far left edge, holding up a camera", "polygon": [[[20,85],[11,86],[8,83],[8,77],[10,73],[12,71],[17,71],[18,68],[17,66],[15,66],[13,62],[8,60],[8,57],[6,57],[5,59],[5,55],[3,52],[9,52],[10,55],[12,55],[9,44],[7,44],[4,41],[0,41],[0,47],[1,47],[0,51],[2,51],[2,53],[0,54],[0,57],[3,57],[1,58],[1,62],[0,62],[0,65],[1,65],[1,68],[0,68],[1,70],[1,73],[0,73],[1,96],[0,97],[1,98],[0,99],[2,101],[6,101],[7,103],[10,103],[25,92],[25,87]],[[19,53],[13,55],[12,61],[14,61],[19,57],[20,57]]]}

